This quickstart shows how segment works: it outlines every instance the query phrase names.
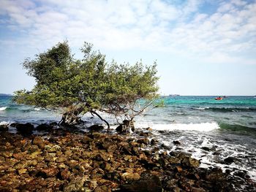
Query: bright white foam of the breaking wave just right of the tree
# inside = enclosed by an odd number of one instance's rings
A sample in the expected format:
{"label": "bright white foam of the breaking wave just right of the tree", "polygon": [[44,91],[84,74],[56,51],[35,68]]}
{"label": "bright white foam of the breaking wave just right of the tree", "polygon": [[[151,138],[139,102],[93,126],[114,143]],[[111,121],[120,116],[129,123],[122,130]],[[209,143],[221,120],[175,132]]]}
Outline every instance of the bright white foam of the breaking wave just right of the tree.
{"label": "bright white foam of the breaking wave just right of the tree", "polygon": [[155,123],[144,123],[137,125],[137,127],[151,127],[156,130],[186,130],[186,131],[213,131],[218,129],[219,125],[216,122],[211,123],[171,123],[171,124],[155,124]]}

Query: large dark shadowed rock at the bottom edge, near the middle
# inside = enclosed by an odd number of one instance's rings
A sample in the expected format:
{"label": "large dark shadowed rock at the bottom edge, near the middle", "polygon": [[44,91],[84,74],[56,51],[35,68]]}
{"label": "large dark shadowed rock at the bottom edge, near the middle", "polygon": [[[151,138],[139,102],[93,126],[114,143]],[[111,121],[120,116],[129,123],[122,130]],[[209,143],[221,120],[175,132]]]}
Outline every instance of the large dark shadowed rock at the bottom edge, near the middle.
{"label": "large dark shadowed rock at the bottom edge, near the middle", "polygon": [[127,192],[162,192],[162,183],[159,177],[152,174],[143,174],[140,180],[121,185],[121,191]]}

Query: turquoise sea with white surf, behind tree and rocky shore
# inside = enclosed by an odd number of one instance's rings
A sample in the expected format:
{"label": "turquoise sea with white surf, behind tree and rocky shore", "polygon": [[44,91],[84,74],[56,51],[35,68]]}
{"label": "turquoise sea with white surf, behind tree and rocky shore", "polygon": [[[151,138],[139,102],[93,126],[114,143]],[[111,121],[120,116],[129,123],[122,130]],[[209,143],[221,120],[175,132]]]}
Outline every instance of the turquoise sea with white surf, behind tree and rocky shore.
{"label": "turquoise sea with white surf, behind tree and rocky shore", "polygon": [[[169,147],[200,160],[201,167],[241,171],[256,181],[256,96],[162,96],[163,107],[135,118],[136,128],[151,128],[153,136]],[[48,111],[12,103],[12,96],[0,96],[0,124],[50,123],[61,119],[61,111]],[[111,128],[115,118],[104,115]],[[102,123],[85,115],[83,120]],[[10,128],[15,132],[15,128]],[[175,145],[173,141],[179,141]],[[225,159],[233,158],[227,163]]]}

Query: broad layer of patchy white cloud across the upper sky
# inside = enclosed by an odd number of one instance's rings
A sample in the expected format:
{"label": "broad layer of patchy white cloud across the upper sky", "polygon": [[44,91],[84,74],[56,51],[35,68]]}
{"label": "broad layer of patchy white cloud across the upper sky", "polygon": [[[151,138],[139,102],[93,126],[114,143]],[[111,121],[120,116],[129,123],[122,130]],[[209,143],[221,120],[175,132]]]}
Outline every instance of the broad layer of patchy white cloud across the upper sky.
{"label": "broad layer of patchy white cloud across the upper sky", "polygon": [[86,40],[108,49],[162,50],[223,63],[236,62],[230,58],[247,50],[255,52],[255,1],[223,1],[213,14],[200,12],[200,0],[183,4],[160,0],[36,3],[1,0],[0,7],[0,15],[5,16],[1,23],[24,31],[22,42],[27,40],[31,47],[63,39],[79,47]]}

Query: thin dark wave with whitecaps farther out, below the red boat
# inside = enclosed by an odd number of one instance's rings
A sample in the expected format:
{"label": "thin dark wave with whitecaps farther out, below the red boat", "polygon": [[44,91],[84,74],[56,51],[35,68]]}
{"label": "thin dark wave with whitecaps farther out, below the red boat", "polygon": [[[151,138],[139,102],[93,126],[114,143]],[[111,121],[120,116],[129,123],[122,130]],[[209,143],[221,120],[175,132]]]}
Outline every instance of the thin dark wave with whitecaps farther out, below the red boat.
{"label": "thin dark wave with whitecaps farther out, below the red boat", "polygon": [[192,107],[192,110],[209,110],[213,112],[256,112],[254,107]]}

